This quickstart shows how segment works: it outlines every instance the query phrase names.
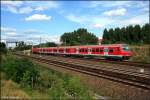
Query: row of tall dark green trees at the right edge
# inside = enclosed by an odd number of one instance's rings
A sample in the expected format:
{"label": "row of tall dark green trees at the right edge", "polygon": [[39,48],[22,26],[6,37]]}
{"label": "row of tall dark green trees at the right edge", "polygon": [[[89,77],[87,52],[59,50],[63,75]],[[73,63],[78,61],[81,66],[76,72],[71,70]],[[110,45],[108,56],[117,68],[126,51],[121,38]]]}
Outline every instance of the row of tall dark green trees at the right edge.
{"label": "row of tall dark green trees at the right edge", "polygon": [[104,29],[103,44],[128,43],[128,44],[149,44],[150,24],[143,26],[129,25],[122,28]]}

